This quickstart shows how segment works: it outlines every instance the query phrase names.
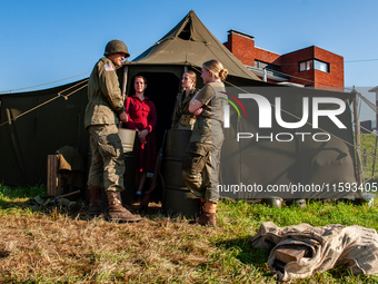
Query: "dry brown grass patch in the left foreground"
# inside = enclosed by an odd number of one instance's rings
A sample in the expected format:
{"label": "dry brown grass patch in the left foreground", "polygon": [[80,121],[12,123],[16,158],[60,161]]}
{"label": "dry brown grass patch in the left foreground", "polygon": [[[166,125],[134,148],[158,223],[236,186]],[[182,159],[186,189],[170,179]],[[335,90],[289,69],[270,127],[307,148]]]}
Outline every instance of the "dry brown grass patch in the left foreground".
{"label": "dry brown grass patch in the left foreground", "polygon": [[[79,210],[81,212],[81,210]],[[4,282],[202,282],[222,275],[219,234],[181,217],[108,223],[58,209],[0,216],[0,280]],[[221,255],[221,254],[220,254]],[[211,272],[210,274],[208,274]],[[208,274],[208,275],[206,275]]]}

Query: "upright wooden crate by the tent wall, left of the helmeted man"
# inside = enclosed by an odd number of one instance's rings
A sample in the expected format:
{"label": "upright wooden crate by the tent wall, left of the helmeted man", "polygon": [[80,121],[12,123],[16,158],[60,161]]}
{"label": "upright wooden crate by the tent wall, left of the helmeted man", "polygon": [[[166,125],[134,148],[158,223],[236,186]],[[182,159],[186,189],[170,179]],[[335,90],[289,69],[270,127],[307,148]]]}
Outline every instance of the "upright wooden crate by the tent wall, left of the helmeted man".
{"label": "upright wooden crate by the tent wall, left of the helmeted man", "polygon": [[47,194],[58,196],[63,192],[63,178],[58,173],[58,155],[48,155]]}

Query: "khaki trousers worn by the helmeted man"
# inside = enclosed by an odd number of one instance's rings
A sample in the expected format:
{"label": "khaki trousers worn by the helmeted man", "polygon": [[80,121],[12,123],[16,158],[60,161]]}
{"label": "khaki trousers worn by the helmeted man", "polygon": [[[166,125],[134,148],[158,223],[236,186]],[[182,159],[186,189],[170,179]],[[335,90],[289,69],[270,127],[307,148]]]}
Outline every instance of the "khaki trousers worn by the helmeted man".
{"label": "khaki trousers worn by the helmeted man", "polygon": [[106,192],[123,190],[123,149],[117,126],[92,125],[88,130],[92,150],[88,188],[105,188]]}

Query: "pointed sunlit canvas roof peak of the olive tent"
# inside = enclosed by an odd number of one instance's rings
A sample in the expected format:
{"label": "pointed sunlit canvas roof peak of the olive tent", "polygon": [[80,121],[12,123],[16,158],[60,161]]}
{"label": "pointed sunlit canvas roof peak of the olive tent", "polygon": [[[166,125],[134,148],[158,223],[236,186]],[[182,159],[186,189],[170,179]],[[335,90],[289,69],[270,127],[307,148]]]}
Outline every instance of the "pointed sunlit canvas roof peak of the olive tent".
{"label": "pointed sunlit canvas roof peak of the olive tent", "polygon": [[132,63],[179,65],[201,69],[202,63],[210,59],[218,59],[222,62],[231,76],[260,80],[205,27],[193,11],[190,11],[152,47],[132,60]]}

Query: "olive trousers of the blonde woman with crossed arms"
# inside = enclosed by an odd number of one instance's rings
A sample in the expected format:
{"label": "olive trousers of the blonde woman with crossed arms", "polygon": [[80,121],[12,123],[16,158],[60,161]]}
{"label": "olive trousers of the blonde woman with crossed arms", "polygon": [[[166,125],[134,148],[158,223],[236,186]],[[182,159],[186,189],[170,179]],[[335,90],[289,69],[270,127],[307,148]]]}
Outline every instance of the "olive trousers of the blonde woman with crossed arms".
{"label": "olive trousers of the blonde woman with crossed arms", "polygon": [[182,179],[190,192],[205,202],[219,200],[220,148],[211,144],[190,143],[182,163]]}

